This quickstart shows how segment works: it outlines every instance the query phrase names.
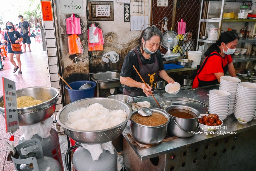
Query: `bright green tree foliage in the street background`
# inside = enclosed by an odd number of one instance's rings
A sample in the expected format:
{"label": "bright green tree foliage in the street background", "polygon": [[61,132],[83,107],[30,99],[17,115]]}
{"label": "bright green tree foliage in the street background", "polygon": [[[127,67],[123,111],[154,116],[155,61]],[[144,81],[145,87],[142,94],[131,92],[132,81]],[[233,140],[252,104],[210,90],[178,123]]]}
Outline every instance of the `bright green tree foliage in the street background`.
{"label": "bright green tree foliage in the street background", "polygon": [[22,15],[24,20],[36,25],[41,21],[41,5],[40,0],[27,0],[28,6],[19,10],[19,15]]}

